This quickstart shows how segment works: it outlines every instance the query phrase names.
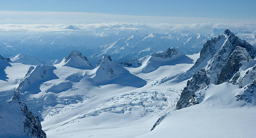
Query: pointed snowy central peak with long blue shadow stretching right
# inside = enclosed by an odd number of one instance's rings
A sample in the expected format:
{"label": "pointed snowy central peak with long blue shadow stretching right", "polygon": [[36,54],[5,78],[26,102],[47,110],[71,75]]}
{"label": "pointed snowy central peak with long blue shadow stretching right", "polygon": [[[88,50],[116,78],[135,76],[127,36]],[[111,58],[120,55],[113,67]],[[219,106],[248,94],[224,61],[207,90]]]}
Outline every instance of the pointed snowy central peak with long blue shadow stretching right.
{"label": "pointed snowy central peak with long blue shadow stretching right", "polygon": [[[120,64],[113,61],[110,55],[103,56],[93,70],[86,70],[96,85],[119,84],[123,86],[142,87],[146,81],[131,74]],[[131,80],[131,81],[130,81]]]}

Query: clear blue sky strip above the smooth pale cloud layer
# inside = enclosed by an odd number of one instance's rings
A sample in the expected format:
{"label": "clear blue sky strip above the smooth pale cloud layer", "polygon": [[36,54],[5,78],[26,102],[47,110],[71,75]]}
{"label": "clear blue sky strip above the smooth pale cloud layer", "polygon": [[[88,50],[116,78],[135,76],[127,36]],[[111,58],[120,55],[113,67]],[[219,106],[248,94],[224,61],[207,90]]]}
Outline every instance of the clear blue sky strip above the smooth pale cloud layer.
{"label": "clear blue sky strip above the smooth pale cloud layer", "polygon": [[1,10],[255,19],[256,0],[3,0]]}

